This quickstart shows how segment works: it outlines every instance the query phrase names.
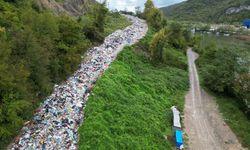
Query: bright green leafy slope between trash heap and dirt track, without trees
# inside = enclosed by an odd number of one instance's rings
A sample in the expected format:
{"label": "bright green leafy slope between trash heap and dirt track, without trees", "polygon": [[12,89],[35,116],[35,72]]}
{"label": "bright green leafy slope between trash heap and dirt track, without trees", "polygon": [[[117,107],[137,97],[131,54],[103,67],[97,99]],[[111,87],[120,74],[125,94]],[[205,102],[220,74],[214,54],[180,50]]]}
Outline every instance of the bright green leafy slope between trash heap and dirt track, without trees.
{"label": "bright green leafy slope between trash heap and dirt track, without trees", "polygon": [[98,80],[79,129],[79,149],[172,149],[172,112],[183,110],[187,71],[154,66],[126,47]]}

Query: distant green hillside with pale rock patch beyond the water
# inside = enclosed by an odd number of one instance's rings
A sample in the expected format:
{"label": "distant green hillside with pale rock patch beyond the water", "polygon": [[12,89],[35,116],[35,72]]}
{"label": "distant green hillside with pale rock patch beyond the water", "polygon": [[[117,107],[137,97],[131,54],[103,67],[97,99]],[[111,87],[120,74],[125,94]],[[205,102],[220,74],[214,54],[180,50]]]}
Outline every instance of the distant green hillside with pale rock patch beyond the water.
{"label": "distant green hillside with pale rock patch beyond the water", "polygon": [[250,0],[187,0],[161,8],[171,19],[200,22],[240,22],[250,18]]}

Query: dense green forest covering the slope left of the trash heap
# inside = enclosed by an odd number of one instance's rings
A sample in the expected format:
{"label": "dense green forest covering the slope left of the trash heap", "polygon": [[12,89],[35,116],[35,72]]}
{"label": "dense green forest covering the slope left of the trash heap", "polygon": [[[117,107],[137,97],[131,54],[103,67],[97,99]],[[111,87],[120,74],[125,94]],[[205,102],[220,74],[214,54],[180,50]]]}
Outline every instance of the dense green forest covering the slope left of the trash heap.
{"label": "dense green forest covering the slope left of the trash heap", "polygon": [[112,31],[129,25],[105,4],[84,16],[57,16],[33,0],[0,1],[0,145],[78,67],[84,52]]}

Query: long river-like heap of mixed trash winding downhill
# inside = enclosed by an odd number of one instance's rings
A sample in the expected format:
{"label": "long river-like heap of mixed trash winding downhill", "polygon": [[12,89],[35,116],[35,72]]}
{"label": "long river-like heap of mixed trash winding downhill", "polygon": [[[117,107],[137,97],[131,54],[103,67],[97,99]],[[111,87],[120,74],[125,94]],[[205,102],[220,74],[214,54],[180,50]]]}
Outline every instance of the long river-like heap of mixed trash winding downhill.
{"label": "long river-like heap of mixed trash winding downhill", "polygon": [[53,94],[36,110],[33,119],[24,124],[10,149],[77,149],[77,130],[96,80],[125,45],[134,44],[146,34],[143,20],[126,17],[132,25],[112,33],[102,45],[88,50],[87,59],[66,82],[55,85]]}

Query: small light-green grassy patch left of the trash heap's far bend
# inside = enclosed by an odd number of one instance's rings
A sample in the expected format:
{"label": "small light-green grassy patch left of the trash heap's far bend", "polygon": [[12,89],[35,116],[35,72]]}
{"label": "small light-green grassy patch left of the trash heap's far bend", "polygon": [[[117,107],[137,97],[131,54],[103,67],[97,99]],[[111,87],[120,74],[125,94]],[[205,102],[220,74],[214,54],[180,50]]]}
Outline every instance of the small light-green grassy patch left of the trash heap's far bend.
{"label": "small light-green grassy patch left of the trash heap's far bend", "polygon": [[127,20],[126,17],[117,13],[108,13],[104,26],[104,35],[108,36],[115,30],[123,29],[129,25],[131,25],[131,23]]}

